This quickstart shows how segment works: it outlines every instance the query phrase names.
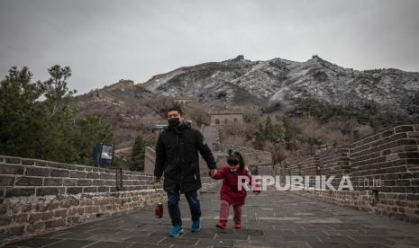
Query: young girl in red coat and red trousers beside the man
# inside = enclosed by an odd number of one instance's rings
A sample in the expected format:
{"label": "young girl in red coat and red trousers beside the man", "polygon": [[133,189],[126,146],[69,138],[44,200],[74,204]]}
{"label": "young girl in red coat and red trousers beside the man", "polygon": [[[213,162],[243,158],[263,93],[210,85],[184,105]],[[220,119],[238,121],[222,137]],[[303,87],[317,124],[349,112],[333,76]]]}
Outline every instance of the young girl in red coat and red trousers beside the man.
{"label": "young girl in red coat and red trousers beside the man", "polygon": [[[251,185],[251,175],[244,164],[243,157],[239,152],[232,153],[232,150],[229,150],[227,164],[213,175],[215,180],[223,179],[220,192],[220,221],[216,225],[218,228],[227,229],[230,205],[232,205],[234,213],[234,228],[241,228],[241,206],[244,205],[246,190],[244,186],[242,186],[241,190],[238,189],[239,176],[247,176]],[[257,185],[255,186],[258,187]],[[259,194],[260,190],[253,190],[253,192]]]}

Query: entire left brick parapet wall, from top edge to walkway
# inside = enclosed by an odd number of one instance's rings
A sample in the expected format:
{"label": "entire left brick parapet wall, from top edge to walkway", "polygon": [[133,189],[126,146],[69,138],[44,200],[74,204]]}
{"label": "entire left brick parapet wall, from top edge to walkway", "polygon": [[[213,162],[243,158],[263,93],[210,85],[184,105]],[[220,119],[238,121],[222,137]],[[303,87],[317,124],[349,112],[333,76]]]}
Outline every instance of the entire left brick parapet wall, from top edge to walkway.
{"label": "entire left brick parapet wall, from top edge to walkway", "polygon": [[165,192],[148,173],[123,171],[117,180],[115,169],[0,155],[0,244],[120,215],[160,197]]}

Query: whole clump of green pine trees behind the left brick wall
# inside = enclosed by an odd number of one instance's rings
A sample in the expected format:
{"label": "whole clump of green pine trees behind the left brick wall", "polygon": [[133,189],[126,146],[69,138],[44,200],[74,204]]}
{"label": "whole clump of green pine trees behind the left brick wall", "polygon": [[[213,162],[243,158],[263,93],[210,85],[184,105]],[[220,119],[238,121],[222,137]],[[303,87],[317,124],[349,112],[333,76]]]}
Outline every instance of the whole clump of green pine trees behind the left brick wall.
{"label": "whole clump of green pine trees behind the left brick wall", "polygon": [[102,116],[76,117],[68,66],[48,71],[50,79],[35,83],[27,67],[14,66],[0,82],[0,154],[93,164],[94,146],[112,143],[113,130]]}

